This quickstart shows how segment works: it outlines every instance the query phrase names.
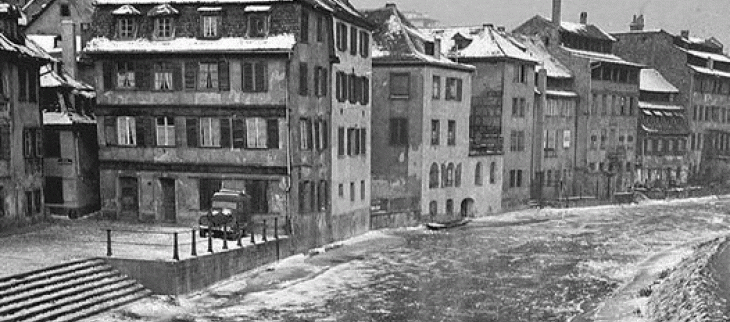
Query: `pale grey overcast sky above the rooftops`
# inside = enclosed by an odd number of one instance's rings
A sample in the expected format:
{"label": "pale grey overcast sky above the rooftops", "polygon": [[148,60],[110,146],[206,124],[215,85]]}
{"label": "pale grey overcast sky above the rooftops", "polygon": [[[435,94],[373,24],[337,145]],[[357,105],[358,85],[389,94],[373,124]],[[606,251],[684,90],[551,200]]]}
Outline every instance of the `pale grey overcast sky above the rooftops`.
{"label": "pale grey overcast sky above the rooftops", "polygon": [[[400,10],[416,10],[441,21],[442,25],[493,23],[513,29],[540,14],[552,15],[551,0],[350,0],[360,9],[377,8],[386,2]],[[730,1],[728,0],[563,0],[563,21],[578,21],[581,11],[588,22],[608,32],[626,31],[634,14],[643,13],[646,29],[664,29],[678,34],[714,36],[730,46]]]}

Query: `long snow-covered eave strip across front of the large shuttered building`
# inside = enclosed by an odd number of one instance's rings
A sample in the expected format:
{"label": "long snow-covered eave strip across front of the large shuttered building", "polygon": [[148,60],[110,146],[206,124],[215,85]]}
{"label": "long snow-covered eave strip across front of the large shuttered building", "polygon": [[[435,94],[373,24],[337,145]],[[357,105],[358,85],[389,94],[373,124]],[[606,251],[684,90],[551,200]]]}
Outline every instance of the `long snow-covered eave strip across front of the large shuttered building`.
{"label": "long snow-covered eave strip across front of the large shuttered building", "polygon": [[111,40],[94,38],[86,45],[84,52],[100,53],[217,53],[217,52],[287,52],[294,48],[296,39],[292,34],[280,34],[267,38],[224,37],[220,39],[198,39],[178,37],[171,40]]}

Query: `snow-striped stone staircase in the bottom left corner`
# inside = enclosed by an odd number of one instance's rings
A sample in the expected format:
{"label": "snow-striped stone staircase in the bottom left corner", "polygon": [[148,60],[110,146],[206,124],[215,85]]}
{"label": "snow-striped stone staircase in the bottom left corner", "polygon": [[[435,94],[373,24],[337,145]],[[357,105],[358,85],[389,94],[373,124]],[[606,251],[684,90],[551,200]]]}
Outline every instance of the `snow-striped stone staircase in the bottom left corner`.
{"label": "snow-striped stone staircase in the bottom left corner", "polygon": [[0,322],[77,321],[151,292],[102,259],[0,278]]}

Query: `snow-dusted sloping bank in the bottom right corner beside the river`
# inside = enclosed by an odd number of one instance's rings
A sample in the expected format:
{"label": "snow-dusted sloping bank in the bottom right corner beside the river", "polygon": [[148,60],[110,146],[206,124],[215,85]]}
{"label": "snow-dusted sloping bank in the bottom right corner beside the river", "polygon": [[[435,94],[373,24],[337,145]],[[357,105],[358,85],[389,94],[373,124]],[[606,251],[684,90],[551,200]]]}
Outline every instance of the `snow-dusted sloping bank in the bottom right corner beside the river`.
{"label": "snow-dusted sloping bank in the bottom right corner beside the river", "polygon": [[666,279],[656,285],[647,303],[650,321],[728,321],[726,299],[712,267],[727,238],[698,245]]}

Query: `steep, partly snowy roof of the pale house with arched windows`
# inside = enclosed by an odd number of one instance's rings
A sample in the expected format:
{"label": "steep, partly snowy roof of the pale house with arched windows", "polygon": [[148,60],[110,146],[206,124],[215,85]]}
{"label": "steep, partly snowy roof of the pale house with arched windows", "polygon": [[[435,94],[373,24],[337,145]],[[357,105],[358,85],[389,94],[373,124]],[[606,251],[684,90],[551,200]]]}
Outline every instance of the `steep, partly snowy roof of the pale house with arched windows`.
{"label": "steep, partly snowy roof of the pale house with arched windows", "polygon": [[414,27],[394,6],[365,10],[363,14],[376,25],[372,45],[375,62],[425,62],[473,69],[472,66],[455,63],[444,55],[436,58],[426,54],[426,44],[432,43],[434,39]]}

